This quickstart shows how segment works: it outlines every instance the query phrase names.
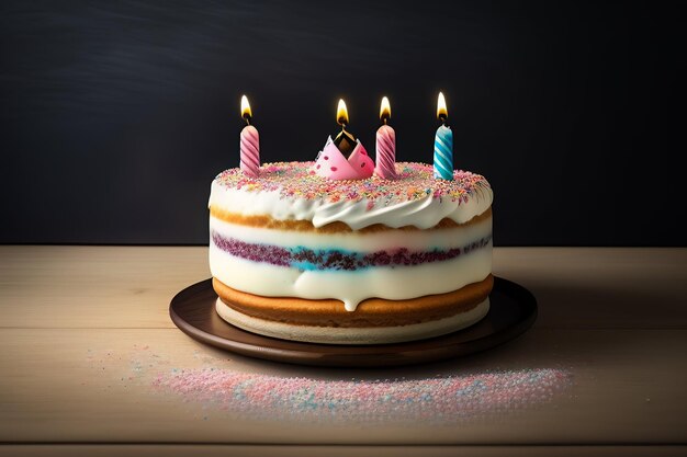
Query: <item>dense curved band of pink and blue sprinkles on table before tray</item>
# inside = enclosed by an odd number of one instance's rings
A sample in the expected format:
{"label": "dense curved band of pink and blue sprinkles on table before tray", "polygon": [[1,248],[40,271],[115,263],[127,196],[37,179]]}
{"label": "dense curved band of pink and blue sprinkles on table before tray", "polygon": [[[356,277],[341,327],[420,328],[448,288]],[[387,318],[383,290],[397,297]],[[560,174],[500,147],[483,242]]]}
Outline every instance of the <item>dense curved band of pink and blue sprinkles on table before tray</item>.
{"label": "dense curved band of pink and blue sprinkles on table before tray", "polygon": [[241,416],[383,423],[447,423],[500,415],[550,401],[570,384],[552,368],[424,379],[323,380],[217,368],[161,374],[154,386],[182,400],[213,404]]}

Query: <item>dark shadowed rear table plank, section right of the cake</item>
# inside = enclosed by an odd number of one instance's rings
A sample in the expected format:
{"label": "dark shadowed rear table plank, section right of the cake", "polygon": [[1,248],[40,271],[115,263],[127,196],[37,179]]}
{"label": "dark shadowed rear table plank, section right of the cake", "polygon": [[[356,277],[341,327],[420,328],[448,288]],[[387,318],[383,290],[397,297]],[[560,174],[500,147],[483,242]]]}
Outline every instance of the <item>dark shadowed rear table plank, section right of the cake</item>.
{"label": "dark shadowed rear table plank, section right of the cake", "polygon": [[539,327],[687,329],[685,248],[497,248],[494,274],[534,294]]}

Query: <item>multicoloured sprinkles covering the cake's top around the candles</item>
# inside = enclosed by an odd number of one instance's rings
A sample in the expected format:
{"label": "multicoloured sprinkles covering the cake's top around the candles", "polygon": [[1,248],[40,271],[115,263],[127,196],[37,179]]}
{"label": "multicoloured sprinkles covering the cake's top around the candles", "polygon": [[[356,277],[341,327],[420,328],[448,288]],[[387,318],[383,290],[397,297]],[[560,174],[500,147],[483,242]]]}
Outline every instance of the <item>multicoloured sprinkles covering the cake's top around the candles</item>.
{"label": "multicoloured sprinkles covering the cake's top around the candles", "polygon": [[455,170],[453,181],[437,180],[433,169],[426,163],[397,162],[395,180],[384,180],[376,175],[365,180],[335,181],[317,176],[312,170],[315,162],[275,162],[260,168],[257,178],[247,176],[238,168],[225,170],[216,182],[232,188],[248,192],[280,192],[284,198],[340,201],[368,201],[368,209],[375,205],[390,205],[426,198],[463,203],[475,193],[491,188],[481,174]]}

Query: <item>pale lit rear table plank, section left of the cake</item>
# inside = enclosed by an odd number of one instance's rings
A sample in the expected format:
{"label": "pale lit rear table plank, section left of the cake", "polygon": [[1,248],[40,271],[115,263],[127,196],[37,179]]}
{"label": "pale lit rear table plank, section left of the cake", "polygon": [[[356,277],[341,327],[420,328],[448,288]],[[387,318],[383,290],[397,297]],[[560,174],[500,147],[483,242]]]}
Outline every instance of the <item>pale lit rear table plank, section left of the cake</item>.
{"label": "pale lit rear table plank, section left of the cake", "polygon": [[210,277],[207,248],[0,247],[1,327],[172,329],[167,309]]}

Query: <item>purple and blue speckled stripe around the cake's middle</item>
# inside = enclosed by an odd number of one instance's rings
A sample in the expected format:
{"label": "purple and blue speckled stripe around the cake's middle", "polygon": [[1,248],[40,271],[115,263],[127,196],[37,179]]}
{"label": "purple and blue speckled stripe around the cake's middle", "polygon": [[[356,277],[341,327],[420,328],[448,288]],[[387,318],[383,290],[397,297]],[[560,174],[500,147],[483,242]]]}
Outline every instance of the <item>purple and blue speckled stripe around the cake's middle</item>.
{"label": "purple and blue speckled stripe around the cake's middle", "polygon": [[297,267],[307,271],[356,271],[371,266],[414,266],[430,262],[441,262],[455,259],[475,249],[484,248],[492,240],[492,236],[481,238],[462,248],[431,251],[409,251],[398,248],[392,251],[375,251],[370,253],[342,251],[339,249],[308,249],[305,247],[283,248],[273,244],[249,243],[236,238],[223,237],[212,231],[211,239],[214,245],[230,255],[252,262],[269,263],[277,266]]}

